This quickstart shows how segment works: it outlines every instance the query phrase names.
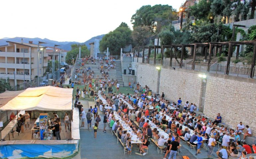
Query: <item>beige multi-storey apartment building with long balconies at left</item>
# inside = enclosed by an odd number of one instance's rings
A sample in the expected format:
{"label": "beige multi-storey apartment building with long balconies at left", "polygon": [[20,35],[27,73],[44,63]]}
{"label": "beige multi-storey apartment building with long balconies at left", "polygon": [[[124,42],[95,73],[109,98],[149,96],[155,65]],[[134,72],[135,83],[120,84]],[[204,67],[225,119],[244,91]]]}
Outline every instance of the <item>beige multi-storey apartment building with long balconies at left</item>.
{"label": "beige multi-storey apartment building with long balconies at left", "polygon": [[34,80],[38,73],[39,77],[43,76],[48,65],[45,46],[39,45],[38,51],[38,45],[33,41],[6,42],[8,44],[0,46],[0,79],[9,78],[10,85],[19,86],[24,80]]}

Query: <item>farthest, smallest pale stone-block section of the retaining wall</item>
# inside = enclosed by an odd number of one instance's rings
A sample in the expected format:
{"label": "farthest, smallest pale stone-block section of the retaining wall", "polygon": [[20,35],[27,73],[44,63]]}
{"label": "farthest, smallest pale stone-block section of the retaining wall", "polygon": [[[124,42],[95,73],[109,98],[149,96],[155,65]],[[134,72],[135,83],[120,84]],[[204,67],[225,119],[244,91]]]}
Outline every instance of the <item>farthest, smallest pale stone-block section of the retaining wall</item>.
{"label": "farthest, smallest pale stone-block section of the retaining wall", "polygon": [[153,65],[139,64],[136,69],[137,82],[141,87],[147,85],[153,92],[157,91],[158,70]]}

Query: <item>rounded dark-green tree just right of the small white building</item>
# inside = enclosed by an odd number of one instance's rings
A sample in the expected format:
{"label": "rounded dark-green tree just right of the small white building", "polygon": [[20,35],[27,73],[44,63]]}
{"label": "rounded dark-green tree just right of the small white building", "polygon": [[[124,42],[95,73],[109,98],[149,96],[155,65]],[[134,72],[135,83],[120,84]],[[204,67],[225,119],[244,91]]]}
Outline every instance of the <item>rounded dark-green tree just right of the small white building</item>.
{"label": "rounded dark-green tree just right of the small white building", "polygon": [[120,55],[120,49],[132,43],[132,30],[126,23],[121,23],[114,31],[107,33],[100,41],[101,52],[109,48],[111,55]]}

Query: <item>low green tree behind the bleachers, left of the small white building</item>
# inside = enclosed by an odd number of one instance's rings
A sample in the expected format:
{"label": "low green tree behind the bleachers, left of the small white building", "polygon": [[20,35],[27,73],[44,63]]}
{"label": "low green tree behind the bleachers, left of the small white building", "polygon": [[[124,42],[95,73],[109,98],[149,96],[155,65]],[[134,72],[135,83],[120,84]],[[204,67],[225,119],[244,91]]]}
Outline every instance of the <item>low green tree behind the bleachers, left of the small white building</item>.
{"label": "low green tree behind the bleachers, left of the small white building", "polygon": [[71,50],[66,55],[66,63],[72,64],[72,58],[74,58],[75,62],[76,56],[79,54],[79,46],[81,46],[81,57],[90,56],[90,51],[85,44],[72,44]]}

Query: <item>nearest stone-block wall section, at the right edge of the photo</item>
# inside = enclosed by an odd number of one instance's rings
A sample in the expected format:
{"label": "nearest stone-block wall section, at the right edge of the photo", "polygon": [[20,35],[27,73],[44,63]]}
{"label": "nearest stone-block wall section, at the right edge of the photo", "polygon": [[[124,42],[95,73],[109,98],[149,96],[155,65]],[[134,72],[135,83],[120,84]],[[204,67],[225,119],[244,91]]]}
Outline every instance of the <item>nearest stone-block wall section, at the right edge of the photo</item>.
{"label": "nearest stone-block wall section, at the right edge of the photo", "polygon": [[236,128],[239,122],[248,125],[256,135],[256,83],[207,77],[204,114]]}

